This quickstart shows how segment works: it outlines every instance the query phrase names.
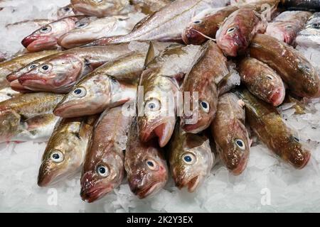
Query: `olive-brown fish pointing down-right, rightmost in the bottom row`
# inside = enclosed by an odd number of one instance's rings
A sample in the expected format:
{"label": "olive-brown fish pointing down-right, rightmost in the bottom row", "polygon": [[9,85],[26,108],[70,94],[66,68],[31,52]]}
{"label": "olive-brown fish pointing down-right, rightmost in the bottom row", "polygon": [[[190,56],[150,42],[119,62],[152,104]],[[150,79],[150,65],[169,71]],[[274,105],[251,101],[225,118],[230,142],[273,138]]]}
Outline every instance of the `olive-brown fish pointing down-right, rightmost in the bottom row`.
{"label": "olive-brown fish pointing down-right, rightmost in the bottom row", "polygon": [[239,95],[245,102],[246,117],[252,131],[282,160],[302,169],[309,162],[310,152],[286,126],[277,109],[255,98],[247,90]]}

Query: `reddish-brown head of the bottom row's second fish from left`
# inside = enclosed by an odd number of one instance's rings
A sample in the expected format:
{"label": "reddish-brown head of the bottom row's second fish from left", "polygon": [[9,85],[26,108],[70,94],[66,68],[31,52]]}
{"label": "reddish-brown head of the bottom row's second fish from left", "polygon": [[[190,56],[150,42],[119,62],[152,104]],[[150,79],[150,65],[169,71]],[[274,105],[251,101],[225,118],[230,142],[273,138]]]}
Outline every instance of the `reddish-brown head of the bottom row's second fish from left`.
{"label": "reddish-brown head of the bottom row's second fish from left", "polygon": [[82,172],[80,196],[89,203],[112,192],[124,177],[124,163],[119,153],[107,152],[99,160],[85,162]]}

